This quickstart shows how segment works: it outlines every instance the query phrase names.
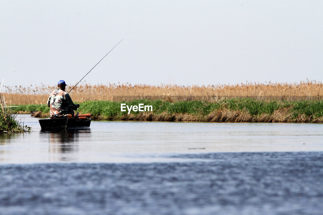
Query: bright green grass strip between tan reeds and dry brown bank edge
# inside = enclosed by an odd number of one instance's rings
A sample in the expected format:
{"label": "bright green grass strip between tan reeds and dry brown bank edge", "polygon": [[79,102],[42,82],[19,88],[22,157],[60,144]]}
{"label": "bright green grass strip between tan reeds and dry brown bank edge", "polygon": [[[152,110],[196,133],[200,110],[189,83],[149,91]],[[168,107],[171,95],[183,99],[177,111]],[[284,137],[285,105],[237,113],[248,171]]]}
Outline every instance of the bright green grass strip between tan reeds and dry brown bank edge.
{"label": "bright green grass strip between tan reeds and dry brown bank edge", "polygon": [[[92,113],[94,118],[101,119],[118,119],[122,115],[128,114],[120,111],[121,103],[131,105],[151,105],[154,114],[169,113],[169,114],[190,114],[195,116],[206,116],[215,110],[228,109],[231,111],[241,111],[249,113],[252,117],[258,117],[262,114],[272,115],[276,110],[287,109],[293,119],[300,116],[308,118],[323,117],[323,101],[322,100],[304,100],[304,101],[281,101],[281,100],[254,100],[246,99],[222,99],[219,101],[176,101],[167,102],[163,100],[146,100],[139,99],[129,102],[112,102],[112,101],[84,101],[80,103],[78,112]],[[43,113],[48,113],[47,105],[20,105],[18,108],[13,108],[15,111],[32,111],[41,110]],[[141,112],[132,111],[130,114],[139,114]]]}

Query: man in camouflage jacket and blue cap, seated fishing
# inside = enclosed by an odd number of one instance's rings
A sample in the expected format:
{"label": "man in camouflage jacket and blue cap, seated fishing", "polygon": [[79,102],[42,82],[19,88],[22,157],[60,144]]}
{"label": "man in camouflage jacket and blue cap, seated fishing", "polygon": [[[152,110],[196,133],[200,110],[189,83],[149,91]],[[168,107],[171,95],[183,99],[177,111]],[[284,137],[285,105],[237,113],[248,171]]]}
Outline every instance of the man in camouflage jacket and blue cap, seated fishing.
{"label": "man in camouflage jacket and blue cap, seated fishing", "polygon": [[57,84],[57,90],[53,91],[47,100],[47,105],[50,108],[50,118],[64,117],[68,114],[74,116],[74,111],[77,110],[80,105],[74,104],[71,97],[65,91],[65,81],[60,80]]}

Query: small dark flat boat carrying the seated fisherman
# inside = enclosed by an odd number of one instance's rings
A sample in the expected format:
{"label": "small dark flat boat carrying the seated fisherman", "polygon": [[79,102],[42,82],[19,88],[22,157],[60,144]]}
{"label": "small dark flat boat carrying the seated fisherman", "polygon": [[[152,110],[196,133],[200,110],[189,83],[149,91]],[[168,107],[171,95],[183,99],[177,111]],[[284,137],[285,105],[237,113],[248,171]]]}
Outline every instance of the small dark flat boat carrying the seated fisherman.
{"label": "small dark flat boat carrying the seated fisherman", "polygon": [[92,114],[76,114],[73,118],[68,115],[63,118],[54,119],[39,119],[39,124],[42,130],[57,130],[57,129],[86,129],[90,128]]}

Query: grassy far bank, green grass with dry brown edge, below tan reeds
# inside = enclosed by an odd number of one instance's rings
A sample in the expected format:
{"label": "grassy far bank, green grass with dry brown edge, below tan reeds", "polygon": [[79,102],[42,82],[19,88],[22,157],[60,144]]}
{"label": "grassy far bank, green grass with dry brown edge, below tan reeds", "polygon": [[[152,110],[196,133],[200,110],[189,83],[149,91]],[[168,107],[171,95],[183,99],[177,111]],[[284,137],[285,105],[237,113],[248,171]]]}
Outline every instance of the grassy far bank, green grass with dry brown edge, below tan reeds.
{"label": "grassy far bank, green grass with dry brown edge, below tan reeds", "polygon": [[[121,112],[120,104],[129,107],[143,103],[152,112]],[[205,122],[323,122],[323,101],[280,101],[253,99],[221,99],[214,101],[133,100],[130,102],[84,101],[80,113],[92,113],[94,119],[205,121]],[[20,105],[15,111],[41,110],[48,116],[45,105]]]}

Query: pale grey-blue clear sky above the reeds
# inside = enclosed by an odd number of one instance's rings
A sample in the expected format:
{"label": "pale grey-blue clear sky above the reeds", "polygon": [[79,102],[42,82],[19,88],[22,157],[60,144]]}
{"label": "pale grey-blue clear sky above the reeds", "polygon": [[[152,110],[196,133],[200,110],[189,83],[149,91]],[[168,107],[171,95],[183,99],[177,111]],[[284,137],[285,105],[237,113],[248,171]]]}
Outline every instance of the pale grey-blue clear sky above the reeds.
{"label": "pale grey-blue clear sky above the reeds", "polygon": [[323,1],[0,0],[4,85],[323,82]]}

